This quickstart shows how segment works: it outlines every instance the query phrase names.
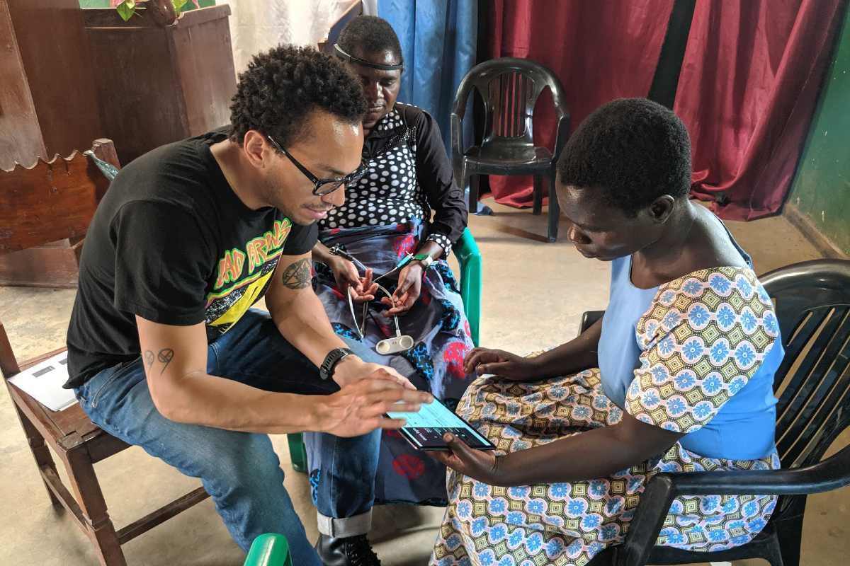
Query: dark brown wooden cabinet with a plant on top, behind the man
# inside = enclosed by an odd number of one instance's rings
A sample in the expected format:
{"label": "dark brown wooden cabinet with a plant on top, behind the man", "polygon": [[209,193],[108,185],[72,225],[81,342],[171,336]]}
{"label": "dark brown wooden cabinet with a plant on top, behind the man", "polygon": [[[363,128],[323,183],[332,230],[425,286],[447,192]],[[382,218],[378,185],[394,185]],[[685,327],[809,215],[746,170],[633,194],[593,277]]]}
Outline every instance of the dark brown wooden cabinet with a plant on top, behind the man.
{"label": "dark brown wooden cabinet with a plant on top, behind the man", "polygon": [[157,25],[144,9],[124,22],[111,8],[82,10],[103,136],[122,164],[230,121],[236,92],[226,4]]}

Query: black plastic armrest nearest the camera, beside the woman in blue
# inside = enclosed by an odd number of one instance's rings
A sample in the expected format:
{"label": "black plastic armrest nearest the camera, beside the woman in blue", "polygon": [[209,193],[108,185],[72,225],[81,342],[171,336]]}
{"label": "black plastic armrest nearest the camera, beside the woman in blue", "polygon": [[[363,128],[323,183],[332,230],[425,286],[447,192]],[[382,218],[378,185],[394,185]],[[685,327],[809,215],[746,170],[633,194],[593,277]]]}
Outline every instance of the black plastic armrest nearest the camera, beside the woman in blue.
{"label": "black plastic armrest nearest the camera, beside the woman in blue", "polygon": [[658,474],[641,496],[617,566],[646,563],[664,519],[677,496],[789,496],[836,490],[850,484],[850,446],[805,468],[735,472]]}

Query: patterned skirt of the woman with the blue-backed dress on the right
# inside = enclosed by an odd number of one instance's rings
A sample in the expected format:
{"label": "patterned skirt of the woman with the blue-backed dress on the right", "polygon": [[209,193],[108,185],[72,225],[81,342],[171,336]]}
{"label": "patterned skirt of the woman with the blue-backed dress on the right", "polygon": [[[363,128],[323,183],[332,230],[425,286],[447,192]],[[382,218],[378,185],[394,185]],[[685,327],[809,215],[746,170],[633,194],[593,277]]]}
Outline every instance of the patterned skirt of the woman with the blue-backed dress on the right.
{"label": "patterned skirt of the woman with the blue-backed dress on the right", "polygon": [[[457,413],[499,454],[541,446],[615,424],[620,407],[604,394],[599,370],[519,384],[487,376],[470,385]],[[701,457],[678,443],[660,457],[608,478],[496,487],[450,471],[449,507],[432,566],[581,566],[620,544],[643,488],[660,472],[775,469],[774,451],[758,460]],[[776,506],[774,496],[682,496],[670,507],[657,541],[692,551],[748,542]]]}

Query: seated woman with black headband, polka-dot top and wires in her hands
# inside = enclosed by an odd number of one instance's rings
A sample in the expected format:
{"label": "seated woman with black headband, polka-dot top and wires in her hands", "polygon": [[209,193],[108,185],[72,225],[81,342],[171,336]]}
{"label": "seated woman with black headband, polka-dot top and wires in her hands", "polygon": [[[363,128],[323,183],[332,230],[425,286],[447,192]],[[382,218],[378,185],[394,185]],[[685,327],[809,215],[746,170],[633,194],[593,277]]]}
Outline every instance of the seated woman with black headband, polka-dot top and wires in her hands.
{"label": "seated woman with black headband, polka-dot top and wires in her hands", "polygon": [[[344,205],[319,221],[320,243],[313,250],[316,294],[337,333],[361,339],[373,351],[379,340],[395,336],[392,315],[399,315],[399,328],[414,345],[380,356],[381,363],[394,367],[418,389],[456,406],[471,382],[463,360],[473,348],[457,282],[446,261],[467,225],[463,193],[454,181],[436,121],[422,109],[396,102],[403,60],[398,36],[388,22],[354,18],[340,33],[334,52],[360,78],[369,103],[363,119],[367,169],[359,182],[345,188]],[[407,254],[422,259],[379,281],[394,294],[393,306],[371,283],[371,272],[330,253],[334,244],[374,270],[375,277],[391,271]],[[356,319],[348,293],[354,295]],[[364,300],[369,310],[360,338]],[[445,505],[445,466],[417,453],[397,433],[383,436],[376,501]],[[308,435],[314,493],[323,482],[331,485],[326,479],[333,469],[321,462],[318,441]]]}

